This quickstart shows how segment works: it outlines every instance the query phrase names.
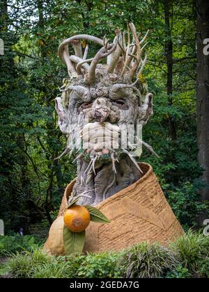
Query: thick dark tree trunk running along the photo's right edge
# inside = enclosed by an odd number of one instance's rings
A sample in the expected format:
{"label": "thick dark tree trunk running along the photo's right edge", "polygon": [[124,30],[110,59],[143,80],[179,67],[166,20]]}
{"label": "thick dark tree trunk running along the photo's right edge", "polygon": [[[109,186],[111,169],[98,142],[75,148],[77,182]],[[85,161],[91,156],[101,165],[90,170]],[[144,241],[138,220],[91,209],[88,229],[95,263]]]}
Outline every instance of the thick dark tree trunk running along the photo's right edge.
{"label": "thick dark tree trunk running along the photo's right edge", "polygon": [[[197,139],[199,147],[199,164],[203,168],[203,181],[209,184],[209,55],[203,54],[206,44],[203,41],[209,38],[209,1],[196,1],[197,23],[197,68],[196,68],[196,111],[197,111]],[[209,200],[209,189],[201,190],[201,201]],[[199,224],[203,224],[206,213],[199,216]]]}

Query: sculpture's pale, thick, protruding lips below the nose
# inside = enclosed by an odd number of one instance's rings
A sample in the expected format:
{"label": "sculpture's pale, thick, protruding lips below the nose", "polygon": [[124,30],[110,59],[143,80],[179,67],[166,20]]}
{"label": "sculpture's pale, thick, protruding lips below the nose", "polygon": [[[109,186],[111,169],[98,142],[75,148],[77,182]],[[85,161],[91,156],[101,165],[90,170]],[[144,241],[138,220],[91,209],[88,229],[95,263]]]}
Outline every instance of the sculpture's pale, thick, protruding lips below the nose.
{"label": "sculpture's pale, thick, protruding lips below the nose", "polygon": [[120,128],[110,122],[88,123],[82,130],[84,149],[93,149],[96,152],[102,149],[118,149]]}

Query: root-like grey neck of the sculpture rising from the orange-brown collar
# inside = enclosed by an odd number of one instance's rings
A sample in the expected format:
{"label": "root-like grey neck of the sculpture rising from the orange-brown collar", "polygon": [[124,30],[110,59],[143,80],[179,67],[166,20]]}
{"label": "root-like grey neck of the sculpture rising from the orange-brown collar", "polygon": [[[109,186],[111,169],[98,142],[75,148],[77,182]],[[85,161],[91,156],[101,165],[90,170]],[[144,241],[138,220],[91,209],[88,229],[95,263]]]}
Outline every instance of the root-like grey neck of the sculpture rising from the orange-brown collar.
{"label": "root-like grey neck of the sculpture rising from the orange-brown collar", "polygon": [[95,163],[95,172],[89,170],[89,163],[79,159],[77,165],[77,181],[73,188],[73,195],[77,196],[84,191],[90,191],[88,197],[82,197],[78,204],[97,205],[100,202],[130,186],[141,177],[141,173],[128,156],[123,156],[116,162],[115,171],[113,163]]}

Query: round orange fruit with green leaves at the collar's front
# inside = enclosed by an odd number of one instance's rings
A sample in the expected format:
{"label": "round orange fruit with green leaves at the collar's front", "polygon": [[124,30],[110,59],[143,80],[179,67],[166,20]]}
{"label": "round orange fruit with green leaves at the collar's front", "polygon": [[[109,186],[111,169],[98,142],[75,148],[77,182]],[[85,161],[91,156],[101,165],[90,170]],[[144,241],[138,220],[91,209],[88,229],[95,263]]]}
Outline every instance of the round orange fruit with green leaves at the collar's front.
{"label": "round orange fruit with green leaves at the collar's front", "polygon": [[90,222],[90,214],[84,206],[70,206],[64,213],[64,222],[71,232],[83,232]]}

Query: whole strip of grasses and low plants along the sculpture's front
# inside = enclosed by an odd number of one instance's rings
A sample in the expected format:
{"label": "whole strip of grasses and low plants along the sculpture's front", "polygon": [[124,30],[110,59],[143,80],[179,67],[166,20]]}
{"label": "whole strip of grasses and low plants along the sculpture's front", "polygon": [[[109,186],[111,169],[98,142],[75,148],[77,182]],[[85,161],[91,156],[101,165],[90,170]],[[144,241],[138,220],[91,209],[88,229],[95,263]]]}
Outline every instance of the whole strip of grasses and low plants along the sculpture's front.
{"label": "whole strip of grasses and low plants along the sculpture's front", "polygon": [[139,243],[123,252],[49,257],[41,248],[10,254],[0,275],[15,278],[188,278],[209,276],[209,237],[188,232],[169,247]]}

